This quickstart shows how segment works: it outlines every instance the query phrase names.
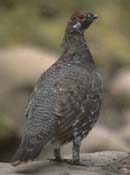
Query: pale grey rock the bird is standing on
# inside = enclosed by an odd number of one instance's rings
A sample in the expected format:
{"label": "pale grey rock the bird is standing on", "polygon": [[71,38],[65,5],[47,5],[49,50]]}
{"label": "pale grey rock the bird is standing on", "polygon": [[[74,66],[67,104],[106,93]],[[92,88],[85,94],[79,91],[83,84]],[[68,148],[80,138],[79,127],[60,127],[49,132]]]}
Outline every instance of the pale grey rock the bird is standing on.
{"label": "pale grey rock the bird is standing on", "polygon": [[85,166],[73,166],[53,161],[34,161],[12,167],[0,164],[1,175],[127,175],[130,173],[130,155],[123,152],[97,152],[81,155]]}

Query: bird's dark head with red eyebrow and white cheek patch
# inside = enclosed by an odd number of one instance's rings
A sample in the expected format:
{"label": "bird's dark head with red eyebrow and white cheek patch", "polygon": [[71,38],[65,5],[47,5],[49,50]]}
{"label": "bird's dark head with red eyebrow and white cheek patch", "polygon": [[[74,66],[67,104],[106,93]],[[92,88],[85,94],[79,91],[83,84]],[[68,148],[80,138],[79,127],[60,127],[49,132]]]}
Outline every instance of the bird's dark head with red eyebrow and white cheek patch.
{"label": "bird's dark head with red eyebrow and white cheek patch", "polygon": [[87,11],[76,12],[72,15],[69,21],[68,30],[69,32],[82,33],[97,18],[98,18],[97,15],[91,12]]}

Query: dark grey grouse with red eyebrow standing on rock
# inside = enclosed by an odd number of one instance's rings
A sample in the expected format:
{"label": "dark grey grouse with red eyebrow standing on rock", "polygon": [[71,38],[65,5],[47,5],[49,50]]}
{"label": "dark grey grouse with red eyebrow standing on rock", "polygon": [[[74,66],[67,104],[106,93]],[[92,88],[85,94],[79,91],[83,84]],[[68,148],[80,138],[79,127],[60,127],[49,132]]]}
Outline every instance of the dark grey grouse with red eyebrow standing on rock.
{"label": "dark grey grouse with red eyebrow standing on rock", "polygon": [[102,76],[85,40],[85,31],[97,19],[90,11],[72,14],[59,59],[39,78],[25,109],[26,126],[11,164],[35,160],[52,146],[56,161],[61,147],[73,143],[73,164],[80,164],[80,146],[96,123],[102,104]]}

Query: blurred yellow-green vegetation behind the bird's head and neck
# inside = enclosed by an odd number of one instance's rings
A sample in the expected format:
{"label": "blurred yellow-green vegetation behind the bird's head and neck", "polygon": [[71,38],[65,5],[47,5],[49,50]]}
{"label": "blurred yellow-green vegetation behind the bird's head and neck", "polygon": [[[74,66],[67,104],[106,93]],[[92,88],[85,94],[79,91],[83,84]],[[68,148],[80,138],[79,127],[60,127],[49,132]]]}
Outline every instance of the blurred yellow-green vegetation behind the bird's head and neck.
{"label": "blurred yellow-green vegetation behind the bird's head and neck", "polygon": [[97,62],[105,69],[130,66],[129,7],[129,0],[0,0],[0,46],[33,44],[59,51],[70,15],[87,9],[99,15],[87,32]]}

